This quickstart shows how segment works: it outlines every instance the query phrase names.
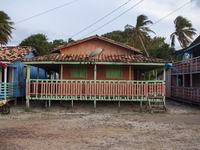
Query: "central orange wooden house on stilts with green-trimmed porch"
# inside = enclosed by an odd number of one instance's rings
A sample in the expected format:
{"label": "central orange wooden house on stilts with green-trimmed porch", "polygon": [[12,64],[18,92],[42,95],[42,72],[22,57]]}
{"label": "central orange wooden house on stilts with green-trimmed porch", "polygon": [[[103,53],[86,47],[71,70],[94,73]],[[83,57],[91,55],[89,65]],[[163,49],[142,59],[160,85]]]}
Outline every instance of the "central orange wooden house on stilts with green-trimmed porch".
{"label": "central orange wooden house on stilts with green-trimmed porch", "polygon": [[[103,52],[89,57],[95,49]],[[144,72],[163,68],[165,61],[142,56],[139,49],[94,35],[51,50],[53,54],[23,59],[28,65],[26,103],[30,100],[162,101],[163,80],[142,80]],[[59,79],[31,79],[30,66],[59,73]],[[46,103],[47,105],[47,103]],[[165,106],[165,104],[163,105]]]}

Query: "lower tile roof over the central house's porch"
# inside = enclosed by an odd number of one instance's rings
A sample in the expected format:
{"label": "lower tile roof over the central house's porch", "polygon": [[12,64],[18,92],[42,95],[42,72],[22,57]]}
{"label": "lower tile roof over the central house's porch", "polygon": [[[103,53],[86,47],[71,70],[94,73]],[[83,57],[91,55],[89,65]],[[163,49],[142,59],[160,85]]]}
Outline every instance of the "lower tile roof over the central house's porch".
{"label": "lower tile roof over the central house's porch", "polygon": [[[23,62],[38,61],[65,61],[65,62],[94,62],[95,58],[89,58],[87,54],[60,54],[54,53],[44,56],[23,59]],[[99,55],[96,62],[125,62],[125,63],[166,63],[166,61],[158,58],[145,57],[142,55]]]}

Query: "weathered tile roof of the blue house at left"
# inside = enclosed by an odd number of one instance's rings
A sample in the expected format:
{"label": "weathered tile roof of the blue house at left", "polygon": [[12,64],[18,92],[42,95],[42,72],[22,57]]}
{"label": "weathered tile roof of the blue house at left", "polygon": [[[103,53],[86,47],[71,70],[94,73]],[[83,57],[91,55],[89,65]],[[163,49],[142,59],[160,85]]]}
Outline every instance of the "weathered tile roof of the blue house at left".
{"label": "weathered tile roof of the blue house at left", "polygon": [[30,52],[39,56],[35,48],[30,46],[0,47],[0,61],[11,61],[23,59]]}

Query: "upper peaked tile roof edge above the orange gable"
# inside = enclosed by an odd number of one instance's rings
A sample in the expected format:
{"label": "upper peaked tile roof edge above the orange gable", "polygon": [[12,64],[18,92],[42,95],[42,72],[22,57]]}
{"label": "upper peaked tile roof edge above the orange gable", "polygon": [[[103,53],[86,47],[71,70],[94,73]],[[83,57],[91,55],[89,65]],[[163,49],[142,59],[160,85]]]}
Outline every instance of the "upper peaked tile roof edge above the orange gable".
{"label": "upper peaked tile roof edge above the orange gable", "polygon": [[112,43],[112,44],[115,44],[115,45],[130,49],[130,50],[133,50],[133,51],[135,51],[135,52],[137,52],[139,54],[142,54],[142,51],[137,49],[137,48],[131,47],[129,45],[126,45],[126,44],[123,44],[123,43],[120,43],[120,42],[117,42],[117,41],[114,41],[114,40],[111,40],[111,39],[108,39],[106,37],[99,36],[99,35],[94,35],[94,36],[90,36],[90,37],[87,37],[87,38],[84,38],[84,39],[81,39],[81,40],[74,41],[72,43],[63,44],[63,45],[60,45],[60,46],[58,46],[58,47],[56,47],[56,48],[54,48],[54,49],[52,49],[50,51],[52,53],[60,53],[60,50],[62,48],[66,48],[66,47],[69,47],[69,46],[72,46],[72,45],[76,45],[78,43],[82,43],[82,42],[89,41],[89,40],[92,40],[92,39],[100,39],[100,40],[103,40],[103,41],[107,41],[109,43]]}

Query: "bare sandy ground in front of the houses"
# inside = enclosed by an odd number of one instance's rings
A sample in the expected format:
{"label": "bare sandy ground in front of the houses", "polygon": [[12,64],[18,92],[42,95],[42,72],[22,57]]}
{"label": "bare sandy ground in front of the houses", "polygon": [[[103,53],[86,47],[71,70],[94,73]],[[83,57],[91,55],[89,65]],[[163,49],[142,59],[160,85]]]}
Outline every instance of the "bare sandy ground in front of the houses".
{"label": "bare sandy ground in front of the houses", "polygon": [[[32,102],[0,116],[0,150],[200,149],[200,107],[167,101],[167,113],[150,114],[139,103]],[[144,107],[144,106],[143,106]]]}

